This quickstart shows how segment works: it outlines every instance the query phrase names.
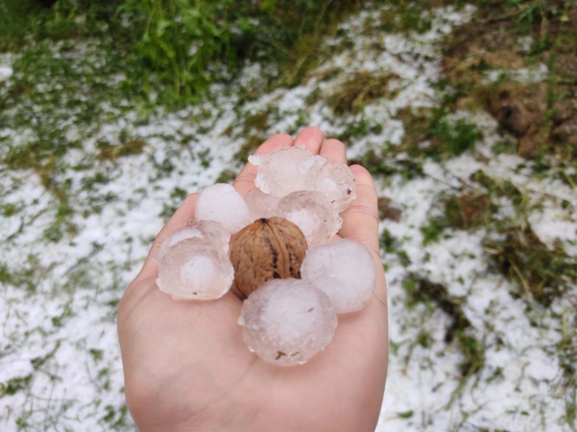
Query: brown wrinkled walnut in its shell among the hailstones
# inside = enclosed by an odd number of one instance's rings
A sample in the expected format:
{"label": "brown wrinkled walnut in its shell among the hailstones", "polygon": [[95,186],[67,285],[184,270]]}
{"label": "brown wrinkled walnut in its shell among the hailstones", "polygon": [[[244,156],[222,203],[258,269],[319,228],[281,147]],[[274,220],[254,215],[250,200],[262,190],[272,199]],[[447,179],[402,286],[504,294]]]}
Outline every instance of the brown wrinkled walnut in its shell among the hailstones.
{"label": "brown wrinkled walnut in its shell among the hailstones", "polygon": [[300,279],[307,248],[298,226],[282,217],[261,218],[245,226],[231,249],[236,288],[248,297],[268,280]]}

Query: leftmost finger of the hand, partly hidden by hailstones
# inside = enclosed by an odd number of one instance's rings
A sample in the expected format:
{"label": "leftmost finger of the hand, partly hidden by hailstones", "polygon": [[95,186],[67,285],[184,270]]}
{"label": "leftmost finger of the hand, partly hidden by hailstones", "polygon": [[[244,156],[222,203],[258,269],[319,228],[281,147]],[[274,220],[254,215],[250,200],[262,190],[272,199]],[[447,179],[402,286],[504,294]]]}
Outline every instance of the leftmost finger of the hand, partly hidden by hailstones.
{"label": "leftmost finger of the hand, partly hidden by hailstones", "polygon": [[182,202],[174,215],[170,217],[169,222],[166,223],[160,230],[160,233],[156,236],[154,243],[151,246],[151,250],[144,261],[142,270],[138,273],[138,276],[134,279],[134,282],[148,278],[156,278],[159,271],[158,263],[154,261],[154,258],[158,255],[160,251],[160,245],[162,241],[167,238],[170,234],[178,230],[182,225],[185,225],[187,221],[195,218],[195,205],[197,204],[198,194],[190,194]]}

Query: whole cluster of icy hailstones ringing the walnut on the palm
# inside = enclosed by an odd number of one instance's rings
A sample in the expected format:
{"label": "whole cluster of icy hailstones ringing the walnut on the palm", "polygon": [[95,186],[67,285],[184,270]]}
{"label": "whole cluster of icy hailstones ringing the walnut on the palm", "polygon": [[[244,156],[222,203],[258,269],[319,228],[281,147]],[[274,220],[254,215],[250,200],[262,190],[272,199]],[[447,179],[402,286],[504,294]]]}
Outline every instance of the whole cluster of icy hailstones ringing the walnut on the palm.
{"label": "whole cluster of icy hailstones ringing the walnut on the palm", "polygon": [[[343,222],[339,213],[355,198],[353,173],[344,163],[301,147],[253,155],[249,161],[258,165],[254,183],[260,190],[243,199],[227,184],[204,189],[196,219],[161,244],[157,284],[174,299],[218,299],[236,282],[231,235],[240,238],[243,228],[275,216],[289,220],[306,238],[304,260],[294,263],[300,268],[291,267],[296,278],[279,279],[274,273],[256,290],[245,291],[249,297],[238,324],[249,349],[265,362],[306,363],[333,338],[336,314],[362,309],[375,289],[375,263],[365,246],[333,241]],[[261,251],[245,253],[258,257]],[[276,265],[276,253],[273,259]],[[238,290],[237,295],[244,297]]]}

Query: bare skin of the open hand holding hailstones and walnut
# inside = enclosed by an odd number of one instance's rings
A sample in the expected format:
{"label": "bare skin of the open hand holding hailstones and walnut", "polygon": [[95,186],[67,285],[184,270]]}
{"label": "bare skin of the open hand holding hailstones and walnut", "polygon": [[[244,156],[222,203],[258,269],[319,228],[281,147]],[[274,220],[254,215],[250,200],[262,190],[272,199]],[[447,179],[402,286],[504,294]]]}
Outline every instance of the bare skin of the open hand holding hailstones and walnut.
{"label": "bare skin of the open hand holding hailstones and walnut", "polygon": [[[346,162],[342,142],[315,127],[296,139],[277,134],[257,153],[305,145]],[[334,339],[308,363],[279,367],[249,352],[236,323],[242,301],[229,291],[212,301],[175,301],[156,288],[152,261],[167,235],[194,218],[192,194],[165,225],[118,309],[128,408],[141,432],[364,432],[380,413],[389,356],[387,286],[380,262],[377,194],[371,175],[351,167],[357,198],[343,212],[337,237],[367,246],[378,272],[375,294],[360,312],[339,316]],[[248,163],[234,182],[254,189]]]}

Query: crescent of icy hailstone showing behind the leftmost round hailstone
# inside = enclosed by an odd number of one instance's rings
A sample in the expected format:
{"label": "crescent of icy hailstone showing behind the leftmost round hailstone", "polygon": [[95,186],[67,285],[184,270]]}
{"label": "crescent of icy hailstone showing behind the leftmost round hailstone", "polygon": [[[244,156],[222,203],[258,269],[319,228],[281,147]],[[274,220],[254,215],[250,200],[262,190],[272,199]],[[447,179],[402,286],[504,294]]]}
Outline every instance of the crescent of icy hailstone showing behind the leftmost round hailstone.
{"label": "crescent of icy hailstone showing behind the leftmost round hailstone", "polygon": [[224,228],[224,225],[214,220],[189,220],[185,225],[170,234],[160,245],[157,262],[167,253],[170,247],[188,238],[204,238],[215,244],[216,247],[228,253],[228,243],[231,234]]}

